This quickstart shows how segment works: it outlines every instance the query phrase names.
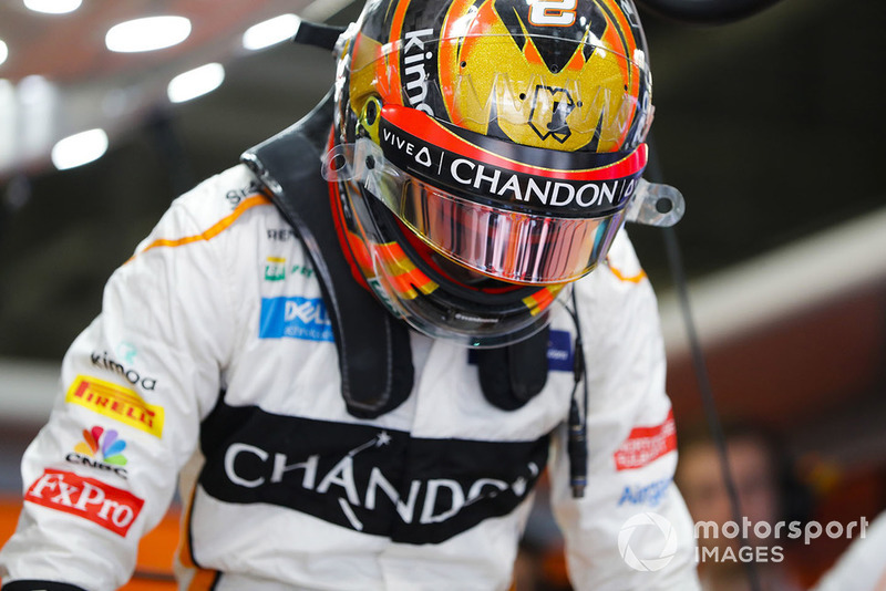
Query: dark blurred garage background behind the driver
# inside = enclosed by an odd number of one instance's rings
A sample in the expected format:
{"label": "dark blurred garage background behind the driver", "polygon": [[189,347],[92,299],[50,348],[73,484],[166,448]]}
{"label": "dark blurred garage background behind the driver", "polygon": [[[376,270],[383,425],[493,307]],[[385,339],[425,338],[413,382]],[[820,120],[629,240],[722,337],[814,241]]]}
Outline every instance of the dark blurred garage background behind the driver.
{"label": "dark blurred garage background behind the driver", "polygon": [[[331,84],[328,52],[248,50],[244,32],[280,14],[344,24],[359,13],[347,0],[82,0],[63,14],[25,3],[0,3],[0,497],[13,512],[19,457],[110,273],[175,196]],[[190,19],[189,35],[143,53],[105,48],[112,25],[158,14]],[[886,4],[789,0],[721,25],[641,14],[655,154],[687,214],[670,238],[629,232],[660,296],[678,433],[703,415],[684,276],[701,383],[723,417],[777,435],[815,515],[873,519],[886,507]],[[171,102],[168,82],[208,63],[224,69],[220,85]],[[106,152],[59,169],[53,146],[94,128]],[[845,543],[807,549],[802,579]]]}

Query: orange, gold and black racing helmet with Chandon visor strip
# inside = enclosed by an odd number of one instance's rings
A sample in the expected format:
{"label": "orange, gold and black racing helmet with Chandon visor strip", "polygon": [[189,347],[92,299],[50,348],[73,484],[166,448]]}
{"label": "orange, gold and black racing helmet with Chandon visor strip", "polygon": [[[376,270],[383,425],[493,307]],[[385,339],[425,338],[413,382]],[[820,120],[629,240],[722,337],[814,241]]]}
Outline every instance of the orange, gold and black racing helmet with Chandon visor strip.
{"label": "orange, gold and black racing helmet with Chandon visor strip", "polygon": [[631,0],[369,0],[336,51],[323,176],[354,277],[432,336],[539,331],[647,163]]}

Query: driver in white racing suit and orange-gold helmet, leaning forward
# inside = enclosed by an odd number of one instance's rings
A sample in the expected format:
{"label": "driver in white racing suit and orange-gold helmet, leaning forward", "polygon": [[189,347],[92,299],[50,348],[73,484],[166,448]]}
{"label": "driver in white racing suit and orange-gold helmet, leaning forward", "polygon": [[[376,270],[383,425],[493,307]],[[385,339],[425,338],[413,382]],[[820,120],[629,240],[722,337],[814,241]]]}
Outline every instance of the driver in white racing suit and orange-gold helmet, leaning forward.
{"label": "driver in white racing suit and orange-gold helmet, leaning forward", "polygon": [[119,588],[176,484],[182,589],[507,589],[546,465],[576,589],[698,588],[632,3],[371,0],[336,56],[110,278],[3,591]]}

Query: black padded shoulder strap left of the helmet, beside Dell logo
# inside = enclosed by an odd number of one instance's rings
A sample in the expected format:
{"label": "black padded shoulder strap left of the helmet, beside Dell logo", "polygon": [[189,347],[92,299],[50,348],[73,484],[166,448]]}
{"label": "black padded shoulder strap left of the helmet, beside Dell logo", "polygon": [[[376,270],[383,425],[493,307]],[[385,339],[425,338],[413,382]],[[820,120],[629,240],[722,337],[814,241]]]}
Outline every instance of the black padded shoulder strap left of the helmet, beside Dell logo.
{"label": "black padded shoulder strap left of the helmet, beside Dell logo", "polygon": [[331,121],[330,94],[305,118],[248,149],[241,159],[270,190],[320,279],[348,412],[373,418],[399,406],[412,390],[409,331],[357,284],[341,252],[329,188],[320,176]]}

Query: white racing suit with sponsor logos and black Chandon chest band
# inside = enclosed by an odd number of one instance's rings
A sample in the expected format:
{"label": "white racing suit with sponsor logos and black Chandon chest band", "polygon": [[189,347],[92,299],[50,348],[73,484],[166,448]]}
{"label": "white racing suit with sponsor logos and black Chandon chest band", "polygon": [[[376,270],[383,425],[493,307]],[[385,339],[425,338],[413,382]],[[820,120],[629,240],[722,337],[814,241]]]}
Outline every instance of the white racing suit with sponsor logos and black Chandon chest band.
{"label": "white racing suit with sponsor logos and black Chandon chest band", "polygon": [[656,300],[625,232],[575,289],[581,499],[565,453],[576,326],[563,304],[547,383],[525,406],[491,405],[466,349],[412,333],[406,402],[354,418],[301,242],[246,166],[208,179],[113,273],[64,357],[23,458],[4,590],[124,584],[176,484],[182,589],[503,590],[546,463],[576,589],[696,589]]}

